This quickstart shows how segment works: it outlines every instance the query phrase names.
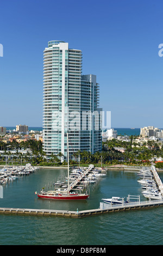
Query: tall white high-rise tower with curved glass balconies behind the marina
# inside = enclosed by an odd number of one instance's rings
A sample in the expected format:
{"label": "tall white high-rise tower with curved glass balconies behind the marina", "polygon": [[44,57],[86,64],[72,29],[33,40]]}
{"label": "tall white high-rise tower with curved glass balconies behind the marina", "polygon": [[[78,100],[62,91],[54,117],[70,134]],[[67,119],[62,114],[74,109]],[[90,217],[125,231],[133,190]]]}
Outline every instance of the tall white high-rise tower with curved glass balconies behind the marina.
{"label": "tall white high-rise tower with curved glass balconies behind the marina", "polygon": [[66,160],[67,130],[70,157],[78,150],[101,151],[100,118],[91,116],[99,113],[99,86],[95,75],[82,76],[82,51],[49,41],[43,73],[43,151]]}

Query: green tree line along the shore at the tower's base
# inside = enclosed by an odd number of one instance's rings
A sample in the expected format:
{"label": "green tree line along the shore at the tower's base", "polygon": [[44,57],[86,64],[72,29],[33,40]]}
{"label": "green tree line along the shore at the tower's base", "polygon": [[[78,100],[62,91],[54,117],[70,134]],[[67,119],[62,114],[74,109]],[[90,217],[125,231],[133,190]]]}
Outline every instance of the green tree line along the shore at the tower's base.
{"label": "green tree line along the shore at the tower's base", "polygon": [[[91,154],[87,151],[77,151],[70,159],[70,164],[105,164],[106,166],[110,164],[117,163],[127,163],[127,164],[145,164],[149,163],[152,157],[162,157],[163,158],[163,147],[159,147],[158,143],[148,142],[148,148],[146,145],[139,145],[135,143],[134,137],[130,137],[130,141],[119,141],[118,139],[112,139],[110,141],[103,142],[102,152],[96,152]],[[27,154],[22,154],[18,152],[18,149],[26,149]],[[115,148],[124,148],[125,152],[122,153]],[[26,142],[18,143],[12,141],[10,143],[4,143],[0,141],[0,149],[4,150],[1,154],[1,161],[5,161],[5,156],[8,156],[8,161],[14,163],[22,161],[23,163],[31,162],[33,164],[42,165],[56,165],[56,164],[67,164],[66,161],[61,163],[62,154],[46,157],[46,153],[42,150],[42,142],[29,139]],[[10,150],[16,150],[15,154],[11,154]],[[11,156],[12,155],[12,156]],[[163,166],[163,164],[162,164]]]}

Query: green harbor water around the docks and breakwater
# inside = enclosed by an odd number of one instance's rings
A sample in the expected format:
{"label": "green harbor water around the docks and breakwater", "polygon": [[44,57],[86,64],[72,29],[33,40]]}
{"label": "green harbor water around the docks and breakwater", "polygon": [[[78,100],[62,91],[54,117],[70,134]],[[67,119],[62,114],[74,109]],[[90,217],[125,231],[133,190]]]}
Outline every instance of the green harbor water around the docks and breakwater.
{"label": "green harbor water around the docks and breakwater", "polygon": [[[49,186],[66,169],[39,169],[10,182],[3,189],[0,207],[84,210],[99,208],[101,198],[140,195],[142,189],[134,171],[109,170],[96,187],[89,186],[90,198],[60,202],[37,198],[35,191]],[[163,173],[159,173],[163,178]],[[112,212],[85,218],[21,216],[0,214],[0,245],[162,245],[163,208]]]}

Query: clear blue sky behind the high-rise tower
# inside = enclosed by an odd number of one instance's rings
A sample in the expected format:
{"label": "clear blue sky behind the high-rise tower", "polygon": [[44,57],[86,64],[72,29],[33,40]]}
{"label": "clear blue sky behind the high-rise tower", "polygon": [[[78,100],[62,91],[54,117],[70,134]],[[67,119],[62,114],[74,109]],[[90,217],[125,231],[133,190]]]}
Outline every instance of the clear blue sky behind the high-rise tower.
{"label": "clear blue sky behind the high-rise tower", "polygon": [[161,0],[1,0],[0,126],[42,126],[43,50],[83,51],[112,127],[163,127]]}

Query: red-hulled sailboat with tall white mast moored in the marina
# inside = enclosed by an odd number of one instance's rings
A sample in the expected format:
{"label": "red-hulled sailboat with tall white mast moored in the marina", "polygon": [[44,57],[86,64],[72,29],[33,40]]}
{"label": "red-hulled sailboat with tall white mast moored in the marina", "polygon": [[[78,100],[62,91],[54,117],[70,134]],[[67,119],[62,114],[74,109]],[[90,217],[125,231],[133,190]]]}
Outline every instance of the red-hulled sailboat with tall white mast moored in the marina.
{"label": "red-hulled sailboat with tall white mast moored in the marina", "polygon": [[41,191],[37,193],[39,198],[44,199],[57,199],[57,200],[85,200],[89,197],[87,193],[74,193],[70,192],[70,184],[69,184],[69,152],[68,152],[68,133],[67,133],[67,159],[68,159],[68,186],[67,190],[64,191]]}

